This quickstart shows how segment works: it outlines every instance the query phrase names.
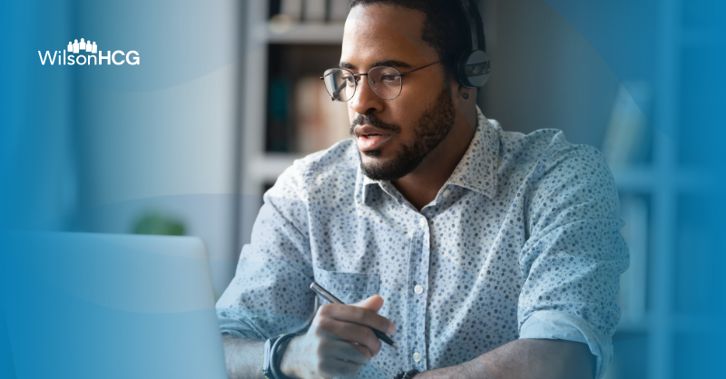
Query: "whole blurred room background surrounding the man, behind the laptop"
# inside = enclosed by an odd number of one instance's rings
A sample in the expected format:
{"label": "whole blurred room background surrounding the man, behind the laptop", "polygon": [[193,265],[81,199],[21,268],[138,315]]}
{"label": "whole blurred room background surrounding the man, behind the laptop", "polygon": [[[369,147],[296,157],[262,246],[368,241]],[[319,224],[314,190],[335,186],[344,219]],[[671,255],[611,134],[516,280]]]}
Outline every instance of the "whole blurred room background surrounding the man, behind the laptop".
{"label": "whole blurred room background surrounding the man, behind the laptop", "polygon": [[[724,5],[477,3],[485,115],[505,131],[561,129],[613,170],[631,266],[606,377],[710,377],[726,336]],[[261,194],[348,137],[346,104],[318,79],[338,65],[348,0],[0,6],[4,35],[22,36],[2,63],[2,228],[199,236],[220,296]],[[37,62],[83,36],[142,63]]]}

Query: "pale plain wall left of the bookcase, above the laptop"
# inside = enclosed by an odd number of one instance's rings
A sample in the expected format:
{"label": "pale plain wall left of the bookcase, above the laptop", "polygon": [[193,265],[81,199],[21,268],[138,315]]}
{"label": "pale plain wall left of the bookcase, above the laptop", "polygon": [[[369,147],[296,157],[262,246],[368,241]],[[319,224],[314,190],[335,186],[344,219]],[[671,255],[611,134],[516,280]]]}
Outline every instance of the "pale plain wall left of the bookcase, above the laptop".
{"label": "pale plain wall left of the bookcase, above the laptop", "polygon": [[129,233],[149,211],[182,219],[187,234],[207,242],[219,296],[238,255],[239,4],[79,2],[77,9],[76,34],[141,57],[135,67],[76,71],[77,228]]}

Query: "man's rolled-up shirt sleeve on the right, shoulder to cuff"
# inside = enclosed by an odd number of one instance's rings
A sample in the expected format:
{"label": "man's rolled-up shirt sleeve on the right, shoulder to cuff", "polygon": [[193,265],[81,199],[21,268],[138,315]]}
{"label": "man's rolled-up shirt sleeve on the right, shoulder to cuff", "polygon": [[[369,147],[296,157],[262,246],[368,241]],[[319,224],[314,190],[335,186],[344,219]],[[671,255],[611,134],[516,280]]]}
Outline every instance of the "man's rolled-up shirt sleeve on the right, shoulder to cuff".
{"label": "man's rolled-up shirt sleeve on the right, shoulder to cuff", "polygon": [[[628,248],[613,176],[593,148],[559,151],[538,178],[529,211],[532,237],[520,255],[520,338],[587,344],[596,378],[613,356],[615,302]],[[581,168],[573,170],[572,168]]]}

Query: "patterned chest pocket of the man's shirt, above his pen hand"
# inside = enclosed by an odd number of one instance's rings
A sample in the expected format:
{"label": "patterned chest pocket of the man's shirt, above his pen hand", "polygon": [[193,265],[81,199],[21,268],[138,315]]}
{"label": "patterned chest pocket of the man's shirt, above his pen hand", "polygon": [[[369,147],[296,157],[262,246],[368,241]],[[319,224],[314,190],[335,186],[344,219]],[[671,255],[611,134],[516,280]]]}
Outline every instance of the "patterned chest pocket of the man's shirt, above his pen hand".
{"label": "patterned chest pocket of the man's shirt, above his pen hand", "polygon": [[[315,281],[345,304],[357,303],[378,294],[378,274],[328,271],[313,267]],[[319,296],[320,304],[329,303]]]}

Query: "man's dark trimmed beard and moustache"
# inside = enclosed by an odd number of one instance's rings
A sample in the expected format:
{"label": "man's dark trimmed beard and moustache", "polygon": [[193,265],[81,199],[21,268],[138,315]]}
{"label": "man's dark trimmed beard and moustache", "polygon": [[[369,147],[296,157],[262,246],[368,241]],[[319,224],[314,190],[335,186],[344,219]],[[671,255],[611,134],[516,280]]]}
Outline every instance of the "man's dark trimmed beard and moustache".
{"label": "man's dark trimmed beard and moustache", "polygon": [[[451,101],[451,95],[442,90],[437,99],[431,103],[425,112],[418,117],[414,124],[414,141],[410,144],[403,144],[396,157],[388,161],[364,163],[361,151],[358,150],[360,159],[360,170],[372,180],[398,180],[415,170],[428,153],[436,149],[441,141],[444,141],[448,132],[454,126],[456,119],[456,108]],[[371,113],[366,115],[358,114],[350,125],[350,134],[360,124],[370,124],[384,131],[400,133],[401,128],[396,124],[380,121]],[[380,156],[379,150],[364,151],[368,157]]]}

